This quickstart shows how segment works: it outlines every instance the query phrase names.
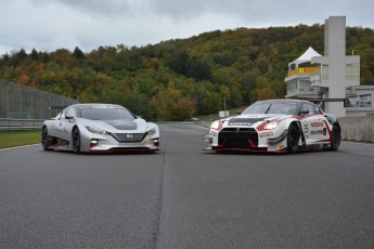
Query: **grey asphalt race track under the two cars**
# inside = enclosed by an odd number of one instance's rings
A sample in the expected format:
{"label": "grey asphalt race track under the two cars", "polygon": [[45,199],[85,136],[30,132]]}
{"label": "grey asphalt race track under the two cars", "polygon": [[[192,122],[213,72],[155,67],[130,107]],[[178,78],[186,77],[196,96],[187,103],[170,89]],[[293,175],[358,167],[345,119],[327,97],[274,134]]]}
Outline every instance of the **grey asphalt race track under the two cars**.
{"label": "grey asphalt race track under the two cars", "polygon": [[374,248],[374,144],[222,155],[160,129],[150,155],[0,150],[0,248]]}

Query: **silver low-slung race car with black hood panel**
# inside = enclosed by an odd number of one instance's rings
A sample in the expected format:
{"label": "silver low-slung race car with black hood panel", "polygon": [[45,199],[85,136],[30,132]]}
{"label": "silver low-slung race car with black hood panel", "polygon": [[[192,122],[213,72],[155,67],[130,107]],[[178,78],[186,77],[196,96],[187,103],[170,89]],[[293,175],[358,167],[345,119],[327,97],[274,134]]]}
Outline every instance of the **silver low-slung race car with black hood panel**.
{"label": "silver low-slung race car with black hood panel", "polygon": [[120,105],[75,104],[43,122],[41,145],[74,153],[152,153],[159,149],[159,129]]}

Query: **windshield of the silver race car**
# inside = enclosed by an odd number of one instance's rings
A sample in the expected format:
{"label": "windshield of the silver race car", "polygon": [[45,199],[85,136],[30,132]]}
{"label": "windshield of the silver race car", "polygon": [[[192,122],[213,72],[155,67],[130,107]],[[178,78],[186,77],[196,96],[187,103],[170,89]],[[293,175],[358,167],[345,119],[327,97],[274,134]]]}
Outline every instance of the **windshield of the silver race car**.
{"label": "windshield of the silver race car", "polygon": [[136,117],[125,108],[80,108],[80,117],[91,120],[136,119]]}

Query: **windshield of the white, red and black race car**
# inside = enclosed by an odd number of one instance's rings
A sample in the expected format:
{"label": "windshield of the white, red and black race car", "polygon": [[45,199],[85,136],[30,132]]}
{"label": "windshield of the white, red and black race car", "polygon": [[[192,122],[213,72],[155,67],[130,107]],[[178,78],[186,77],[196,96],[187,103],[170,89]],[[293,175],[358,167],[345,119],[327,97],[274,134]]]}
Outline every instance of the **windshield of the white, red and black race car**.
{"label": "windshield of the white, red and black race car", "polygon": [[257,102],[246,108],[242,115],[248,114],[284,114],[295,115],[297,109],[296,103],[284,102]]}

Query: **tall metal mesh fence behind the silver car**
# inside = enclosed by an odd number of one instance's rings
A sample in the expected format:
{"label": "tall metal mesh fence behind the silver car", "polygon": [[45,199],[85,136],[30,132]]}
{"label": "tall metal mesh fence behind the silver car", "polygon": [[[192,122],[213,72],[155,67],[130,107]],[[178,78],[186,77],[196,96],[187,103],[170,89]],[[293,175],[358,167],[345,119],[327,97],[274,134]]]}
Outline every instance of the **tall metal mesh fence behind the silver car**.
{"label": "tall metal mesh fence behind the silver car", "polygon": [[[78,101],[0,80],[0,119],[44,120]],[[52,108],[51,108],[52,107]]]}

